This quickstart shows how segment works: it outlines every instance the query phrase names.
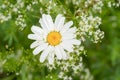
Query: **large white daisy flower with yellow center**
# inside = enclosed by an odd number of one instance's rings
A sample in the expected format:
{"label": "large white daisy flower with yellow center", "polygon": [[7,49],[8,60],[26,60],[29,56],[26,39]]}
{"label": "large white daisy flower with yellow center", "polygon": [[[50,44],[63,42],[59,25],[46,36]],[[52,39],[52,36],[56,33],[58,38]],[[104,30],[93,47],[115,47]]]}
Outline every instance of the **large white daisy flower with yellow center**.
{"label": "large white daisy flower with yellow center", "polygon": [[50,15],[43,14],[39,23],[41,27],[32,26],[33,34],[29,34],[28,38],[35,40],[30,45],[30,48],[35,48],[34,55],[40,52],[40,62],[48,59],[49,64],[54,63],[54,57],[57,59],[66,60],[68,52],[73,52],[74,45],[80,45],[80,41],[76,39],[76,28],[72,21],[65,22],[65,17],[61,14],[57,15],[55,22],[53,22]]}

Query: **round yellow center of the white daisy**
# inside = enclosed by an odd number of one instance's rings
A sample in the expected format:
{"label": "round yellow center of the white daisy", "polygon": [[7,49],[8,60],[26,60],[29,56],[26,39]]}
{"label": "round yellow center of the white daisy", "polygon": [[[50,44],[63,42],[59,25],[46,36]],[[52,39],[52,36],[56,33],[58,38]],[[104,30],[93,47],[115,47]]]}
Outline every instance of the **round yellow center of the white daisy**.
{"label": "round yellow center of the white daisy", "polygon": [[56,46],[61,42],[61,34],[57,31],[52,31],[47,35],[47,42],[52,45]]}

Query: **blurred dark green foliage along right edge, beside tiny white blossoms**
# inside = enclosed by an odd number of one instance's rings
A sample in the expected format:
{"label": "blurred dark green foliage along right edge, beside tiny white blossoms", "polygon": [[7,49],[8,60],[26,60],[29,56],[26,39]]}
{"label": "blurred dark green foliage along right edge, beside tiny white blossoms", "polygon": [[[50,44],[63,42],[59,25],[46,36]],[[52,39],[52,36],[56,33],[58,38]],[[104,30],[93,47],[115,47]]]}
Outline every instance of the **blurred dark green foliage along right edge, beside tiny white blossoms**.
{"label": "blurred dark green foliage along right edge, beside tiny white blossoms", "polygon": [[95,80],[120,80],[120,8],[103,7],[99,44],[87,44],[86,64]]}

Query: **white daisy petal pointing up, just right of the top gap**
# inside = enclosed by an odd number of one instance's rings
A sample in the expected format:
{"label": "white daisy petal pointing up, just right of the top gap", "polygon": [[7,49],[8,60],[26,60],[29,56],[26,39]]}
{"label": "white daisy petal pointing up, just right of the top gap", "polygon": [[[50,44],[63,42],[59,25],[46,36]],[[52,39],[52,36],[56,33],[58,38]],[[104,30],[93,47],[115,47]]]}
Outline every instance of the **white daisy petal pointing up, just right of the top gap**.
{"label": "white daisy petal pointing up, just right of the top gap", "polygon": [[65,21],[65,18],[62,17],[61,14],[58,14],[58,16],[55,19],[55,30],[59,31],[63,26],[64,21]]}

